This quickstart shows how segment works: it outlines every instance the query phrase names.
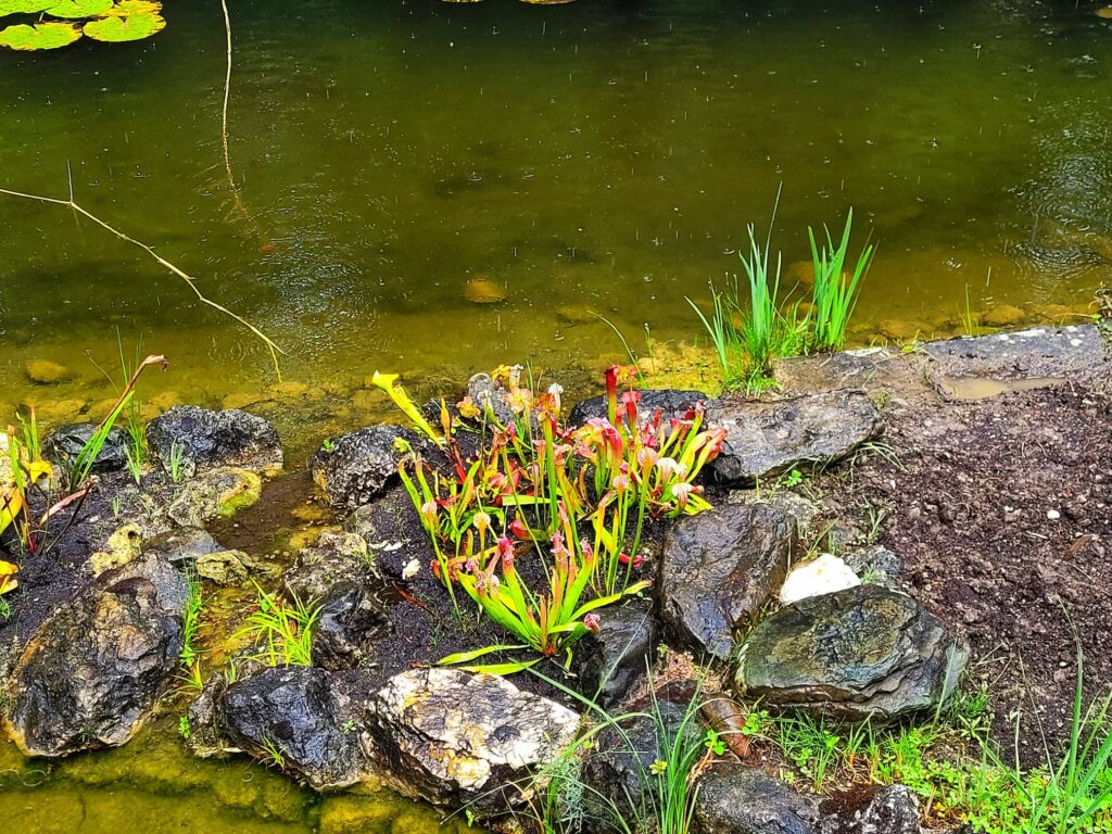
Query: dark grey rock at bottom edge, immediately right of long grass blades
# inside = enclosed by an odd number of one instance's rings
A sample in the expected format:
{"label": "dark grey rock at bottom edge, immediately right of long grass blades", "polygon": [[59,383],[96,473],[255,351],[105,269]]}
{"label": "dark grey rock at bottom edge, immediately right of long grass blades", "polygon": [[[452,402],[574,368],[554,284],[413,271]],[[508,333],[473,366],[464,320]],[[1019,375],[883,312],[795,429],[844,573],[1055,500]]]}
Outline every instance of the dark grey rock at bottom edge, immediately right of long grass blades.
{"label": "dark grey rock at bottom edge, immediately right of long grass blades", "polygon": [[695,834],[818,834],[814,803],[764,772],[717,765],[697,783]]}

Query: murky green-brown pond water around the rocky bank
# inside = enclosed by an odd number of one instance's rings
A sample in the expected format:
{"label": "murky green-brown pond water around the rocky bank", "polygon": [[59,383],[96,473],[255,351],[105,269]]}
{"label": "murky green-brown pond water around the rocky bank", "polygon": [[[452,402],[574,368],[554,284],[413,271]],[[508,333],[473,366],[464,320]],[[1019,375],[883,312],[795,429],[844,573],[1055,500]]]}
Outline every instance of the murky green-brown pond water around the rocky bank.
{"label": "murky green-brown pond water around the rocky bank", "polygon": [[[850,206],[880,245],[858,342],[955,332],[966,298],[1076,320],[1112,278],[1112,21],[1088,2],[895,6],[232,0],[234,190],[219,3],[168,0],[147,42],[0,52],[0,187],[64,196],[68,162],[83,207],[271,335],[288,380],[334,394],[376,368],[620,358],[593,314],[638,350],[646,327],[691,340],[684,297],[736,271],[781,185],[790,276],[807,225]],[[93,224],[0,197],[0,229],[6,414],[95,410],[93,361],[118,367],[118,339],[171,358],[148,388],[162,403],[275,381],[257,339]],[[72,379],[34,386],[32,359]],[[332,405],[321,424],[360,416]],[[281,427],[307,446],[302,417]],[[328,802],[175,745],[44,776],[13,763],[0,814],[42,832],[321,825]],[[157,776],[168,759],[180,785]],[[430,825],[390,807],[385,826]]]}

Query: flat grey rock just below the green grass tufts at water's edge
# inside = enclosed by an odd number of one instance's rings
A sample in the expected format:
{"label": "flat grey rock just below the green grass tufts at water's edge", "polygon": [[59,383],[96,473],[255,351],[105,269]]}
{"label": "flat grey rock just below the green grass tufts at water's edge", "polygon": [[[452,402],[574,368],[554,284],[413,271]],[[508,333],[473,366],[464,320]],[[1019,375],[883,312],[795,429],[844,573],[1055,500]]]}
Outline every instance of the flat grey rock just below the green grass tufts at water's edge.
{"label": "flat grey rock just below the green grass tufts at water's edge", "polygon": [[707,408],[707,423],[727,429],[709,471],[731,487],[841,460],[882,430],[876,406],[857,389],[771,401],[717,400]]}

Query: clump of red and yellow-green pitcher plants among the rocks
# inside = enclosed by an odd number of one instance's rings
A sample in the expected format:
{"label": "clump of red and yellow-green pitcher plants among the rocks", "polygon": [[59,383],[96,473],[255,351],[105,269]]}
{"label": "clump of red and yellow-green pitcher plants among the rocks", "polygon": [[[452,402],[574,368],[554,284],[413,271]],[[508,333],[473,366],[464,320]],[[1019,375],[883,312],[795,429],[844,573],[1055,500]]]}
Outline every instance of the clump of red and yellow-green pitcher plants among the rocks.
{"label": "clump of red and yellow-green pitcher plants among the rocks", "polygon": [[[399,467],[453,605],[463,588],[520,641],[443,662],[529,648],[569,663],[575,642],[597,631],[600,608],[648,587],[637,578],[646,520],[709,508],[694,480],[718,454],[725,430],[704,427],[702,404],[679,418],[645,411],[633,368],[606,371],[606,417],[578,427],[560,419],[558,385],[537,393],[522,385],[519,368],[500,368],[495,377],[513,419],[504,424],[493,408],[467,398],[453,418],[441,403],[443,434],[424,419],[415,425],[444,450],[447,473],[411,448]],[[376,379],[406,414],[417,413],[395,377]],[[473,455],[460,451],[459,431],[479,437]],[[517,570],[534,556],[540,587]],[[536,662],[471,668],[506,674]]]}

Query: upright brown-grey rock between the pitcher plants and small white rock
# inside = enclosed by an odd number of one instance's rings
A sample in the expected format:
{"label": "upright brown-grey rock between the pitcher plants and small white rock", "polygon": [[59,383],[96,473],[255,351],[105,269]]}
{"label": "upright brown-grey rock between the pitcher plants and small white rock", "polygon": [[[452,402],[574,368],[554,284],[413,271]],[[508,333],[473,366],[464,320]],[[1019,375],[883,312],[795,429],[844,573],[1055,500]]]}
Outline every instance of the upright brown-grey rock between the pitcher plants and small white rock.
{"label": "upright brown-grey rock between the pitcher plants and small white rock", "polygon": [[768,503],[681,519],[661,550],[656,599],[665,628],[696,652],[728,659],[735,629],[774,597],[797,544],[794,516]]}

